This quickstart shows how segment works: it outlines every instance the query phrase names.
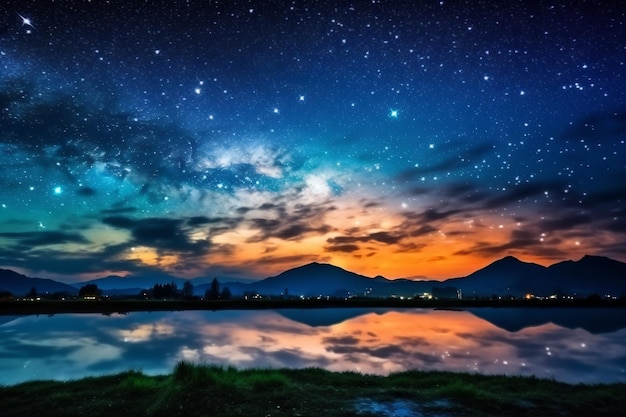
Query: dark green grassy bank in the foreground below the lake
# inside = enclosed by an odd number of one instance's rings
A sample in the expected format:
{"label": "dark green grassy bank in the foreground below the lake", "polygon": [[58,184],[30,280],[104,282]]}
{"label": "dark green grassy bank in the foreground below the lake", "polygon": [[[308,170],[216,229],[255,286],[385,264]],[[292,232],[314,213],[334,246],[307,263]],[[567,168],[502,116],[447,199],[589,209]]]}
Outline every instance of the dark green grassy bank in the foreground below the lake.
{"label": "dark green grassy bank in the foreground below the lake", "polygon": [[131,371],[0,387],[0,415],[25,416],[614,416],[626,384],[527,377],[320,369],[236,370],[179,363],[171,375]]}

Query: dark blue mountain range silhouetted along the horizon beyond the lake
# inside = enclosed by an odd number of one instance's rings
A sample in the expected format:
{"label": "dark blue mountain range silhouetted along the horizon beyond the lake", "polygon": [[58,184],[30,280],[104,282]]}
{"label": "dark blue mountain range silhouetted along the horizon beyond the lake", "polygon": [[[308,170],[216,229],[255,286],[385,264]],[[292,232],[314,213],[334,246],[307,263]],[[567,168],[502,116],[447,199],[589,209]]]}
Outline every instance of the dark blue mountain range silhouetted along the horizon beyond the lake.
{"label": "dark blue mountain range silhouetted along the horizon beyond the lake", "polygon": [[[210,278],[190,280],[194,285],[194,293],[203,295],[210,287],[211,280]],[[24,295],[33,287],[38,293],[75,294],[78,288],[90,283],[98,285],[106,294],[134,295],[142,289],[151,288],[156,283],[174,282],[178,288],[182,288],[185,281],[167,274],[159,274],[109,276],[68,285],[50,279],[29,278],[11,270],[0,269],[0,291],[8,291],[15,295]],[[621,296],[626,294],[626,263],[587,255],[578,261],[564,261],[544,267],[507,256],[466,277],[445,281],[418,281],[390,280],[382,276],[370,278],[330,264],[314,262],[260,281],[242,283],[220,280],[220,284],[222,287],[228,287],[234,295],[248,292],[290,296],[389,297],[413,296],[431,292],[433,288],[454,287],[462,291],[464,298],[491,295],[521,297],[527,293]]]}

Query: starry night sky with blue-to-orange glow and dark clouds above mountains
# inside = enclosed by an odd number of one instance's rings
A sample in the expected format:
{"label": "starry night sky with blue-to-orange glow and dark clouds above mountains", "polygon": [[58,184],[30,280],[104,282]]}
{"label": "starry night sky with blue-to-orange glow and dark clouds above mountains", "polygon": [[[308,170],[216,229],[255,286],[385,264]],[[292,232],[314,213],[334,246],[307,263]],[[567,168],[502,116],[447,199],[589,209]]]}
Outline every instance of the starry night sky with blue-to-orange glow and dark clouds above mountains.
{"label": "starry night sky with blue-to-orange glow and dark clouds above mountains", "polygon": [[0,267],[443,279],[626,261],[626,6],[0,9]]}

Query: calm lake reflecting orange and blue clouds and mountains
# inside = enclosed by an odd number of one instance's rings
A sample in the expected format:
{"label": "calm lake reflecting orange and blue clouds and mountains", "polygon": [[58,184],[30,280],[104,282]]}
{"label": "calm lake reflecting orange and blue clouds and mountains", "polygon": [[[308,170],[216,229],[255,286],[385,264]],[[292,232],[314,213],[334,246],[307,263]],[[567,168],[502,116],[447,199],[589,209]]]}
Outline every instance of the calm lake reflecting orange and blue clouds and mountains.
{"label": "calm lake reflecting orange and blue clouds and mountains", "polygon": [[170,372],[181,360],[626,382],[620,308],[284,309],[0,316],[0,384]]}

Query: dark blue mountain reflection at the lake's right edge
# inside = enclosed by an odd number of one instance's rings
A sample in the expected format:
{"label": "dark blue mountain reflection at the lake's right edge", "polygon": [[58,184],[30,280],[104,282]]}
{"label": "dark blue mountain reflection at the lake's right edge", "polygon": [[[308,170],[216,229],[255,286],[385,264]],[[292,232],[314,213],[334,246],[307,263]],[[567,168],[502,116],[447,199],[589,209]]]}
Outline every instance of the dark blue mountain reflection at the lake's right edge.
{"label": "dark blue mountain reflection at the lake's right edge", "polygon": [[509,332],[548,323],[589,333],[611,333],[626,329],[623,308],[468,308],[476,317]]}

